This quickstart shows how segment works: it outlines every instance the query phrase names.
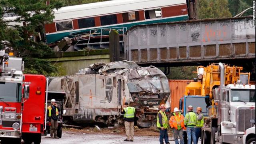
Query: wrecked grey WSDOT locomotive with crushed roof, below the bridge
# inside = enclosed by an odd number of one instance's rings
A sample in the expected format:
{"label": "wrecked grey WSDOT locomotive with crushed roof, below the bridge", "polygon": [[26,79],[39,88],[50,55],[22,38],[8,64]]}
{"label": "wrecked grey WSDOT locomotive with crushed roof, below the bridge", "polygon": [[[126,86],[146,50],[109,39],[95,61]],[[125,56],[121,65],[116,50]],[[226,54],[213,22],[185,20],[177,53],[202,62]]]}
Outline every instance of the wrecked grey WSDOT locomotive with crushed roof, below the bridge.
{"label": "wrecked grey WSDOT locomotive with crushed roof, below the bridge", "polygon": [[64,94],[64,121],[83,125],[122,122],[124,102],[136,108],[137,124],[155,124],[157,108],[170,96],[164,73],[154,66],[140,67],[135,62],[96,63],[72,76],[49,80],[52,94]]}

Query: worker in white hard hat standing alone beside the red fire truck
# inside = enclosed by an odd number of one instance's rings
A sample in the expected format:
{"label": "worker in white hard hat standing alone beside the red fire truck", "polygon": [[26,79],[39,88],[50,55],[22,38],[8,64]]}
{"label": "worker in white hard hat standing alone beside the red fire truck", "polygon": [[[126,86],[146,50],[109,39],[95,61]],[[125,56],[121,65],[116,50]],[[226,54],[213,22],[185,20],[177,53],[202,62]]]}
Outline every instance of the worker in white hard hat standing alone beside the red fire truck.
{"label": "worker in white hard hat standing alone beside the red fire truck", "polygon": [[51,122],[50,127],[50,136],[51,138],[58,138],[57,129],[58,129],[58,116],[59,116],[60,108],[58,108],[58,104],[56,100],[51,100],[51,105],[47,107],[47,116],[49,122]]}

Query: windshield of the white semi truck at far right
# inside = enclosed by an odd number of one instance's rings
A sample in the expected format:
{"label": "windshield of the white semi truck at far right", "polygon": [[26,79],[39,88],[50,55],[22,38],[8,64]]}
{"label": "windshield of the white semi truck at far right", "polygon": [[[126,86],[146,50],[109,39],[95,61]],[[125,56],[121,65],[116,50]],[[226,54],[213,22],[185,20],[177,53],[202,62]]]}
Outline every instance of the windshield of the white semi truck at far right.
{"label": "windshield of the white semi truck at far right", "polygon": [[255,102],[255,90],[233,89],[231,90],[232,102]]}

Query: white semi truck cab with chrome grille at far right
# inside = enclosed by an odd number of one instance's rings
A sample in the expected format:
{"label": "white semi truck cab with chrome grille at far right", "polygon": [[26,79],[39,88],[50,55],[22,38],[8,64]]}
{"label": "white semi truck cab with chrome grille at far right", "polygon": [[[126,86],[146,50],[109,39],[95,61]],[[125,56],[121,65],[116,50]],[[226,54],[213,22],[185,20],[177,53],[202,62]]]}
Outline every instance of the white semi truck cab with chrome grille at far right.
{"label": "white semi truck cab with chrome grille at far right", "polygon": [[227,118],[220,125],[221,138],[226,143],[240,143],[246,129],[254,126],[250,120],[255,120],[255,85],[228,84],[225,93],[227,104],[222,112]]}

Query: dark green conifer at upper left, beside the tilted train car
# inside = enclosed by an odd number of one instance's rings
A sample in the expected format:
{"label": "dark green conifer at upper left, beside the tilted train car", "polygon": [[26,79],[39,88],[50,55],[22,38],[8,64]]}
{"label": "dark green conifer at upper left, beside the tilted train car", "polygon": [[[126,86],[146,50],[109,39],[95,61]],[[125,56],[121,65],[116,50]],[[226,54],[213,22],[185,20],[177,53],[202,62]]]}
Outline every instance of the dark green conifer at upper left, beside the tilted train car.
{"label": "dark green conifer at upper left, beside the tilted train car", "polygon": [[52,22],[54,9],[61,6],[58,0],[50,5],[46,0],[0,0],[0,49],[11,47],[15,56],[24,57],[25,72],[50,75],[56,71],[40,59],[52,50],[38,39],[44,35],[44,24]]}

